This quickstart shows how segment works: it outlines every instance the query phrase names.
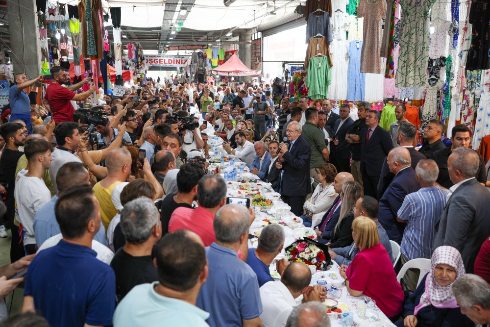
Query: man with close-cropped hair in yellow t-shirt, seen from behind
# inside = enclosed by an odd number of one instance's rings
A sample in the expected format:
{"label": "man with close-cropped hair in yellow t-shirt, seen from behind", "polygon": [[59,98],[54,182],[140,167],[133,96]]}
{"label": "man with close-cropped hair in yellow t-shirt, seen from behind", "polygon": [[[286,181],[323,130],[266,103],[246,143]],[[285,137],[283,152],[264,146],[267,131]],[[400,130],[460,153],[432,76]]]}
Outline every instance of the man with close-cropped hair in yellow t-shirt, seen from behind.
{"label": "man with close-cropped hair in yellow t-shirt, seen from behind", "polygon": [[105,159],[107,176],[94,185],[94,196],[100,203],[100,218],[107,230],[112,218],[118,213],[111,200],[112,190],[125,182],[131,173],[131,153],[126,149],[114,149]]}

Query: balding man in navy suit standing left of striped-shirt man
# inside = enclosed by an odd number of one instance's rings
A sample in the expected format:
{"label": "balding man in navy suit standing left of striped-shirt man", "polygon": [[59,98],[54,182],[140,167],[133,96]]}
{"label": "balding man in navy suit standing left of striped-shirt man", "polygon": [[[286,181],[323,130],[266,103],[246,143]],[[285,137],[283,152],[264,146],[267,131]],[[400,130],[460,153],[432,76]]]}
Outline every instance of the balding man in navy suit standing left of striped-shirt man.
{"label": "balding man in navy suit standing left of striped-shirt man", "polygon": [[395,176],[379,200],[379,223],[385,228],[390,240],[398,244],[401,243],[406,226],[396,221],[398,209],[405,196],[420,189],[411,164],[412,158],[407,148],[394,148],[388,153],[388,167]]}

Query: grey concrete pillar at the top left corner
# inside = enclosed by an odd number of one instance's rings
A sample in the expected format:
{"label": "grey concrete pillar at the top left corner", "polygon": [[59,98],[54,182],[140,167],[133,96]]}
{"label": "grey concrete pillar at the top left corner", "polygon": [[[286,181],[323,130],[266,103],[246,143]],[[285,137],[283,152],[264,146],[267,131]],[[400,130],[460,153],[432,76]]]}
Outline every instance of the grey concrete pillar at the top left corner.
{"label": "grey concrete pillar at the top left corner", "polygon": [[34,78],[41,72],[41,45],[35,0],[7,1],[10,48],[14,74]]}

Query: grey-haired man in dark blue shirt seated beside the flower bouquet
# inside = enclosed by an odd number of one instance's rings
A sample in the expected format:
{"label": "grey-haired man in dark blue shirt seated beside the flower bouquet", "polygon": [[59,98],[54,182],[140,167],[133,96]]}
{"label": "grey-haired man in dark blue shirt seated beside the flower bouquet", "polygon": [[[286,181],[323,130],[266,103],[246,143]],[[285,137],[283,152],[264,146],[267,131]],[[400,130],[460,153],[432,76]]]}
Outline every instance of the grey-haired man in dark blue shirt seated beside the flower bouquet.
{"label": "grey-haired man in dark blue shirt seated beside the flower bouquet", "polygon": [[270,276],[269,265],[284,248],[285,237],[282,226],[278,224],[265,226],[260,233],[257,249],[248,249],[246,263],[257,275],[259,287],[274,280]]}

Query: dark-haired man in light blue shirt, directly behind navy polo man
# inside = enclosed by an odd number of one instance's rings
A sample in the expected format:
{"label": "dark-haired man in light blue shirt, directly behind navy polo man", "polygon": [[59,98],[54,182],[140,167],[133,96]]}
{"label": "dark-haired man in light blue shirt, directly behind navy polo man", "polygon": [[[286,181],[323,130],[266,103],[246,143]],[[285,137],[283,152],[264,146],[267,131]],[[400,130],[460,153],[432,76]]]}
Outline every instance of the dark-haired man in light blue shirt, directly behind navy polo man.
{"label": "dark-haired man in light blue shirt, directly behind navy polo man", "polygon": [[[56,185],[58,187],[58,195],[55,195],[51,201],[39,208],[34,216],[34,235],[36,236],[38,248],[51,236],[61,233],[54,213],[54,206],[58,201],[58,196],[73,186],[90,185],[90,174],[87,166],[76,161],[65,163],[56,173]],[[98,233],[94,236],[94,240],[107,246],[103,225],[100,226]]]}

